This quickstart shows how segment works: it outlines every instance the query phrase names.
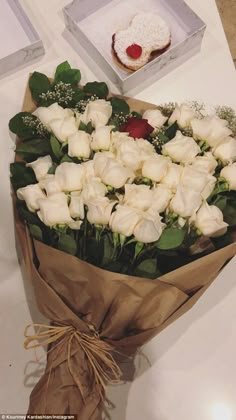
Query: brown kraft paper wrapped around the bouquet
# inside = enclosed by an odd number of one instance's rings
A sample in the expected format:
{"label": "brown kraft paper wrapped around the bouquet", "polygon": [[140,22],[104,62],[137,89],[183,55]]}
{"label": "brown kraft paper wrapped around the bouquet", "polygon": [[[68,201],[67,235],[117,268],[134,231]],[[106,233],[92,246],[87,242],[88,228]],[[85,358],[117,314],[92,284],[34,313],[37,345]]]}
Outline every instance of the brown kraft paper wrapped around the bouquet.
{"label": "brown kraft paper wrapped around the bouquet", "polygon": [[[153,108],[133,99],[128,102],[139,112]],[[23,110],[34,108],[27,89]],[[102,270],[41,242],[32,242],[14,210],[22,263],[41,313],[53,323],[72,325],[80,332],[88,332],[92,324],[101,339],[122,354],[133,354],[190,309],[236,253],[234,243],[159,279],[132,277]],[[103,401],[96,387],[90,389],[88,360],[79,345],[73,346],[72,362],[86,403],[68,369],[65,344],[60,352],[53,349],[48,353],[46,371],[30,396],[29,413],[77,414],[79,420],[101,420]]]}

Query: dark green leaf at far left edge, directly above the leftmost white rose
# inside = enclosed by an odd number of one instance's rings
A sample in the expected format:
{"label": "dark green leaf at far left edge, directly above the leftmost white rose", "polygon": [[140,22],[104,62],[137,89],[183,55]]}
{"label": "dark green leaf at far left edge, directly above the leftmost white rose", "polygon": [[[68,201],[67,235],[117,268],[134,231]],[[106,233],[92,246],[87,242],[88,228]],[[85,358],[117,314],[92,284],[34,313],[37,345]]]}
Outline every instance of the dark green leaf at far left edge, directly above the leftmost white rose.
{"label": "dark green leaf at far left edge, directly above the leftmost white rose", "polygon": [[10,172],[14,191],[18,190],[18,188],[26,187],[26,185],[37,183],[33,169],[26,167],[24,162],[11,163]]}

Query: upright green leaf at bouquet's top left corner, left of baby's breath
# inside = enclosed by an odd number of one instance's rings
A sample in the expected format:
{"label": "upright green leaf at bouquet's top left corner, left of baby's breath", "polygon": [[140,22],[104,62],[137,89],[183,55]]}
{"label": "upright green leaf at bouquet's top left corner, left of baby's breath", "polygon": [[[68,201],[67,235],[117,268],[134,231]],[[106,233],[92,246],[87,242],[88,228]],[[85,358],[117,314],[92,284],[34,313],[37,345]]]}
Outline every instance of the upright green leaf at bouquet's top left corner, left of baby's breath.
{"label": "upright green leaf at bouquet's top left corner, left of baby's breath", "polygon": [[[50,80],[43,73],[35,71],[29,79],[29,88],[32,98],[37,104],[44,104],[45,100],[42,99],[42,93],[47,93],[52,90]],[[46,104],[45,104],[46,105]]]}

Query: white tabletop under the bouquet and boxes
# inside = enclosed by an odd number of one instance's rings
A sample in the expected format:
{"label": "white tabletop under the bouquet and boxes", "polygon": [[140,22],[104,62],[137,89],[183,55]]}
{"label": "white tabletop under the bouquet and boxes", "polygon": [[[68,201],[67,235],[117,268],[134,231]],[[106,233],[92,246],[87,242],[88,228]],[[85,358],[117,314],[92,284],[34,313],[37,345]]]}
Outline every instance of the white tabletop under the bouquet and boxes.
{"label": "white tabletop under the bouquet and boxes", "polygon": [[[0,412],[24,414],[43,361],[37,363],[34,353],[23,348],[25,325],[40,316],[30,284],[24,287],[15,252],[9,186],[14,137],[7,123],[21,108],[29,72],[52,75],[67,59],[81,69],[83,83],[95,76],[63,36],[62,7],[68,0],[21,3],[46,49],[38,62],[0,80]],[[156,104],[198,99],[236,108],[236,72],[215,2],[187,3],[208,25],[201,53],[136,97]],[[132,383],[109,390],[117,406],[112,420],[236,419],[235,270],[236,259],[188,313],[145,346],[151,367],[142,360]]]}

